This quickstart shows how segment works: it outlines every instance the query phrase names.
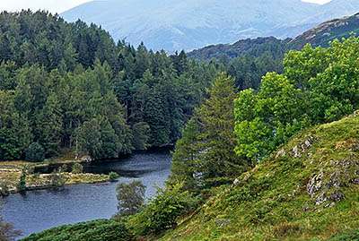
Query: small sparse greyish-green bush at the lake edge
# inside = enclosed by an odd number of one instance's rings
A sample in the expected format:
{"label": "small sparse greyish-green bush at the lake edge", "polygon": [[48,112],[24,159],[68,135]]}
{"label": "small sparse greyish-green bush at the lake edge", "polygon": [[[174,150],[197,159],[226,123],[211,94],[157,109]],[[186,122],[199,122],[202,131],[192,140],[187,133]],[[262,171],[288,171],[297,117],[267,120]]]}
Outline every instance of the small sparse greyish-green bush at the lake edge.
{"label": "small sparse greyish-green bush at the lake edge", "polygon": [[141,181],[133,181],[129,184],[119,183],[116,188],[118,194],[118,215],[134,215],[144,206],[145,186]]}

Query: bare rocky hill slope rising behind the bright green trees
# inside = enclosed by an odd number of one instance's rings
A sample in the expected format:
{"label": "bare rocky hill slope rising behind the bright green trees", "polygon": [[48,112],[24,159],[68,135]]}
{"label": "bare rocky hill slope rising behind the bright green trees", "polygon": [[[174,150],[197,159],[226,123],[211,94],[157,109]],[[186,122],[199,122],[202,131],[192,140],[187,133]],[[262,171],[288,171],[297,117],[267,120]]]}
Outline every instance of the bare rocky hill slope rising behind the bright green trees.
{"label": "bare rocky hill slope rising behind the bright green trees", "polygon": [[328,41],[348,38],[352,32],[359,33],[359,13],[320,23],[320,25],[291,40],[289,46],[294,49],[301,49],[310,43],[313,47],[328,47]]}

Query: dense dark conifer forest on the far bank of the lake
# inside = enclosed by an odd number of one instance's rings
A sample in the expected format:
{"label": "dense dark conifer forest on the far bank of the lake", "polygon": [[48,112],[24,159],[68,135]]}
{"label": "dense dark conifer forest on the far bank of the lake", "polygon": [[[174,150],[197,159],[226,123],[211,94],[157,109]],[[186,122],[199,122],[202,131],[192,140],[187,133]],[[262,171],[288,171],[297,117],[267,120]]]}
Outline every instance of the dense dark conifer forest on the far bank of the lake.
{"label": "dense dark conifer forest on the far bank of the lake", "polygon": [[44,12],[1,13],[0,46],[1,160],[64,147],[111,159],[174,143],[223,69]]}

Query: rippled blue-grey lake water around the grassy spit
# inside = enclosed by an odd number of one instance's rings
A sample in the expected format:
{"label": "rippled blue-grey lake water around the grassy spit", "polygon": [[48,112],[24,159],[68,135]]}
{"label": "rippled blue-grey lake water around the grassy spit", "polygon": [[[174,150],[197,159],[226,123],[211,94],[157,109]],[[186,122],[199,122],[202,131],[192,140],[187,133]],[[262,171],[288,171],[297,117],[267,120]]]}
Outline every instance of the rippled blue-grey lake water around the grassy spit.
{"label": "rippled blue-grey lake water around the grassy spit", "polygon": [[[147,186],[146,197],[155,193],[153,184],[162,185],[170,175],[170,151],[136,153],[126,159],[85,165],[93,173],[116,171],[119,181],[134,178]],[[31,191],[2,198],[5,221],[21,229],[23,237],[48,228],[76,222],[109,219],[117,211],[117,183],[71,185],[58,190]]]}

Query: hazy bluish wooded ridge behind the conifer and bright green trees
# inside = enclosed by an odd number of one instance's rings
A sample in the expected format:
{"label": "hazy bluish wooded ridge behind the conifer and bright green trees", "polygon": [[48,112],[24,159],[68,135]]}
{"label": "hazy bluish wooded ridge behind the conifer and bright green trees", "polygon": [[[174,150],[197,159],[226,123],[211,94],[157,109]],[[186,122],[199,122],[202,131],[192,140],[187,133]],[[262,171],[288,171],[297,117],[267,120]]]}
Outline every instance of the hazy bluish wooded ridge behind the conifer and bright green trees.
{"label": "hazy bluish wooded ridge behind the conifer and bright green trees", "polygon": [[240,90],[258,90],[268,72],[283,73],[283,59],[290,48],[287,40],[273,37],[243,39],[232,45],[203,47],[188,53],[200,63],[218,60],[225,72],[235,79]]}

